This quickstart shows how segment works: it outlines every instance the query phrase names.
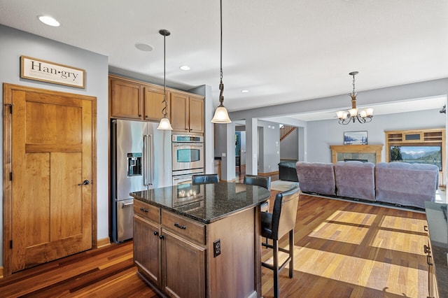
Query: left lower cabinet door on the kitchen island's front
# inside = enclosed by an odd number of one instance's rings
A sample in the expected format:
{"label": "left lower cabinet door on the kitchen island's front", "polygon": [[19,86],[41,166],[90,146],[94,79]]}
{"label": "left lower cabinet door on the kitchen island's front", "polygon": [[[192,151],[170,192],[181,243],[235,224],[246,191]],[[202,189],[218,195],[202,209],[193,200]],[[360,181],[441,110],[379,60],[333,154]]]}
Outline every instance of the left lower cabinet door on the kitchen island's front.
{"label": "left lower cabinet door on the kitchen island's front", "polygon": [[160,287],[160,226],[134,215],[134,263]]}

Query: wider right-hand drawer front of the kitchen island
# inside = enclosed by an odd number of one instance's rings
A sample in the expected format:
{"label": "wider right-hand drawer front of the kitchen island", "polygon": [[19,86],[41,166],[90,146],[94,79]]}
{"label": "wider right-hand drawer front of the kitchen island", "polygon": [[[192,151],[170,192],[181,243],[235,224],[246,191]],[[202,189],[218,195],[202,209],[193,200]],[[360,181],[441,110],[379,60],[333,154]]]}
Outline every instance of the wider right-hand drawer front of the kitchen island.
{"label": "wider right-hand drawer front of the kitchen island", "polygon": [[162,210],[162,228],[169,229],[187,240],[206,243],[205,225],[165,210]]}

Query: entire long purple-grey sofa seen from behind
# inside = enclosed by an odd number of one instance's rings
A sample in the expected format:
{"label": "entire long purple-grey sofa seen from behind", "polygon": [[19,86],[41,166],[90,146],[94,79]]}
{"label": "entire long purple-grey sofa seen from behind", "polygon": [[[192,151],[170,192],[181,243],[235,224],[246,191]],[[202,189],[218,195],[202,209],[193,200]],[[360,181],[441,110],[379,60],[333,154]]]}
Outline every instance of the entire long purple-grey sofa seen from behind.
{"label": "entire long purple-grey sofa seen from behind", "polygon": [[425,208],[435,201],[439,169],[405,162],[297,162],[300,190],[363,201]]}

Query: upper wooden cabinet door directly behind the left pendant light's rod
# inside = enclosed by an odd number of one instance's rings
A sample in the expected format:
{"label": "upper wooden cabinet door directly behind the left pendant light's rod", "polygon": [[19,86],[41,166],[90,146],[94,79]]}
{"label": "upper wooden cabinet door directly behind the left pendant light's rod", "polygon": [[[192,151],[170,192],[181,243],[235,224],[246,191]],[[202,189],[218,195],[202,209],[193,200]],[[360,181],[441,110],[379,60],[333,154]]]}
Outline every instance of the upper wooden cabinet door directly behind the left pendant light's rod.
{"label": "upper wooden cabinet door directly behind the left pendant light's rod", "polygon": [[[167,118],[169,118],[169,92],[167,91]],[[163,101],[163,88],[145,87],[145,104],[144,104],[144,118],[145,120],[160,121],[162,118],[162,109],[165,104]]]}

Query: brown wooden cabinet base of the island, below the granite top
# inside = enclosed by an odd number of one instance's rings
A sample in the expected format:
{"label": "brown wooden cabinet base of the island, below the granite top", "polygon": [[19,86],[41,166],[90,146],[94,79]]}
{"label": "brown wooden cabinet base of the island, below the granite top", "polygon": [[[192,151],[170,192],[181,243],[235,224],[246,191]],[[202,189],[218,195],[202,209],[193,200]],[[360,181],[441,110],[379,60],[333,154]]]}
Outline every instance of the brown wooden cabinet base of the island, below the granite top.
{"label": "brown wooden cabinet base of the island, below the granite top", "polygon": [[260,297],[259,222],[259,207],[204,224],[134,199],[134,264],[168,297]]}

